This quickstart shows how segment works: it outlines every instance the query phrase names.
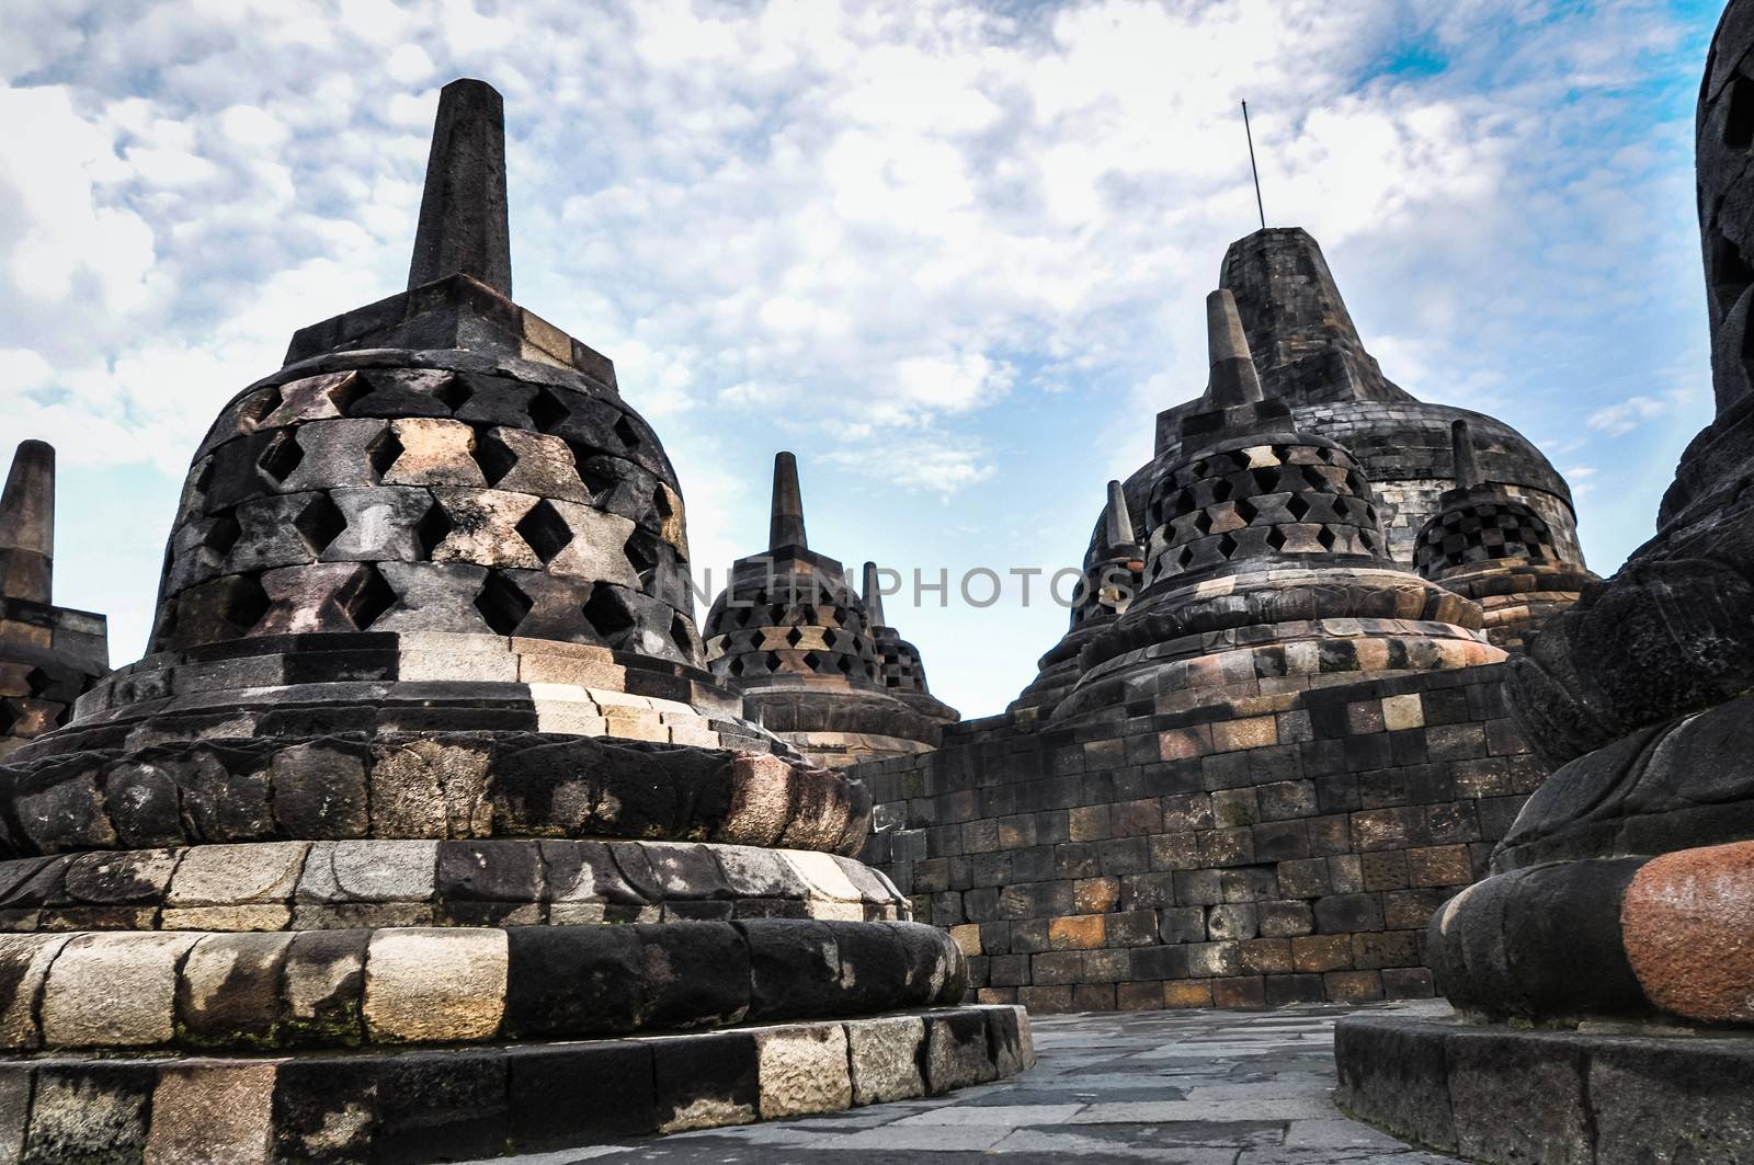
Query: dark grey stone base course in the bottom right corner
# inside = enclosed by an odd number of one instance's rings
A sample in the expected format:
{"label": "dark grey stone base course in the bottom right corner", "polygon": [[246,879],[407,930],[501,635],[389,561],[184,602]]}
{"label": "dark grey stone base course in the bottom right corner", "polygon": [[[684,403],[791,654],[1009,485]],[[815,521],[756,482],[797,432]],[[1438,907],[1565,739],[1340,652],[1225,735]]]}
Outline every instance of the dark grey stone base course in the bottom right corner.
{"label": "dark grey stone base course in the bottom right corner", "polygon": [[1408,1016],[1335,1028],[1342,1111],[1491,1165],[1754,1161],[1754,1033],[1531,1030]]}

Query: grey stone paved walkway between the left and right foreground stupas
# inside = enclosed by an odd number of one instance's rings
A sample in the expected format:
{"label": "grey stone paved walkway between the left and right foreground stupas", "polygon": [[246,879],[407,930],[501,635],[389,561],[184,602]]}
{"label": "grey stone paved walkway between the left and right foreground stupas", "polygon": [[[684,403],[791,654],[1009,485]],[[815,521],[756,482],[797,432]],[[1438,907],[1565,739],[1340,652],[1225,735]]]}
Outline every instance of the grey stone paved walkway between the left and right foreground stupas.
{"label": "grey stone paved walkway between the left and right foreground stupas", "polygon": [[1040,1063],[1031,1072],[954,1097],[498,1165],[959,1165],[991,1156],[1010,1165],[1451,1165],[1335,1111],[1333,1021],[1342,1014],[1042,1016],[1033,1019]]}

